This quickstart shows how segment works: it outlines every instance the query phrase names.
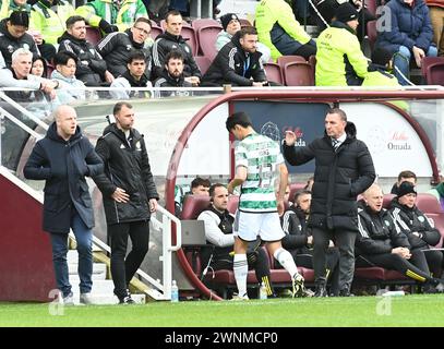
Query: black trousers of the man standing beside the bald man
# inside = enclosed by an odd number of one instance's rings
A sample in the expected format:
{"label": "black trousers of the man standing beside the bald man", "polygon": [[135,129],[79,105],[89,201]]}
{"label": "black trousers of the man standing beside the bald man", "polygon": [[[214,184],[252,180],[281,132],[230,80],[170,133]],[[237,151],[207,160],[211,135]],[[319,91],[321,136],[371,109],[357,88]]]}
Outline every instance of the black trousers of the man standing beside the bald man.
{"label": "black trousers of the man standing beside the bald man", "polygon": [[[121,222],[108,226],[111,239],[111,275],[115,282],[115,294],[127,296],[128,285],[141,266],[149,244],[149,221]],[[127,258],[128,237],[132,249]]]}

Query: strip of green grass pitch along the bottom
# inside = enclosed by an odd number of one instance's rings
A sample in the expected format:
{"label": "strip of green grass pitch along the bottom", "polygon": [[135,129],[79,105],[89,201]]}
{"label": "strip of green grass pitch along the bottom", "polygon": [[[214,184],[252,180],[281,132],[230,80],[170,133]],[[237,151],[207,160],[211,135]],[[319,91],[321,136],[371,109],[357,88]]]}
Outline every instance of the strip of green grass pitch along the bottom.
{"label": "strip of green grass pitch along the bottom", "polygon": [[[51,315],[62,311],[62,315]],[[0,303],[0,326],[444,326],[444,294],[65,306]]]}

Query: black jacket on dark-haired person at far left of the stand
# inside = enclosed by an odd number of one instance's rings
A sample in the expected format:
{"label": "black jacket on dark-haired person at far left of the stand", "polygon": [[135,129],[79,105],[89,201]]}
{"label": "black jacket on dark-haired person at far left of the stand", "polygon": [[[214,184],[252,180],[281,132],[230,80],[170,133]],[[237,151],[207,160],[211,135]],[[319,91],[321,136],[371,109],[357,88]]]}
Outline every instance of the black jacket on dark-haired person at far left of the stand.
{"label": "black jacket on dark-haired person at far left of the stand", "polygon": [[11,67],[12,53],[19,48],[27,48],[33,52],[34,58],[39,57],[40,52],[29,34],[25,33],[20,38],[13,37],[9,34],[7,28],[8,20],[9,19],[4,19],[0,22],[0,52],[3,56],[7,67]]}

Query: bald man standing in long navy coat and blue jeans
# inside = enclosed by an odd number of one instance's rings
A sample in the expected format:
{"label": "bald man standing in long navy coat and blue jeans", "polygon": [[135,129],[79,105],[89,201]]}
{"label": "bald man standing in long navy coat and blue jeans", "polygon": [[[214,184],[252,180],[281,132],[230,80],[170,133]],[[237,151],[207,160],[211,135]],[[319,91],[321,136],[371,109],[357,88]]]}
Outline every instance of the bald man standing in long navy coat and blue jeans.
{"label": "bald man standing in long navy coat and blue jeans", "polygon": [[46,180],[43,228],[50,234],[56,281],[63,303],[73,304],[67,264],[72,228],[79,252],[80,302],[89,304],[94,215],[85,177],[100,173],[104,164],[82,134],[74,108],[59,106],[55,119],[46,136],[35,145],[23,173],[27,179]]}

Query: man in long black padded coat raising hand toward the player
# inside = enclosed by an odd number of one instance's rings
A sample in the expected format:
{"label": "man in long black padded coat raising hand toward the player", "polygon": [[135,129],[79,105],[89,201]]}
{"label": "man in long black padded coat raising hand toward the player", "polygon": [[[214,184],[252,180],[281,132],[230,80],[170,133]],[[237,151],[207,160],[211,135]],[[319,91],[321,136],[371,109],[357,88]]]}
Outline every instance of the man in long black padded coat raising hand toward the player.
{"label": "man in long black padded coat raising hand toward the player", "polygon": [[325,255],[329,240],[339,249],[339,296],[350,296],[355,272],[355,240],[358,233],[357,196],[365,191],[376,174],[367,145],[357,140],[356,127],[339,108],[328,109],[325,133],[308,146],[296,147],[296,134],[287,131],[284,156],[299,166],[313,158],[313,197],[309,227],[313,234],[315,296],[327,296]]}

